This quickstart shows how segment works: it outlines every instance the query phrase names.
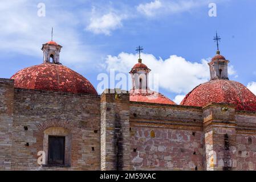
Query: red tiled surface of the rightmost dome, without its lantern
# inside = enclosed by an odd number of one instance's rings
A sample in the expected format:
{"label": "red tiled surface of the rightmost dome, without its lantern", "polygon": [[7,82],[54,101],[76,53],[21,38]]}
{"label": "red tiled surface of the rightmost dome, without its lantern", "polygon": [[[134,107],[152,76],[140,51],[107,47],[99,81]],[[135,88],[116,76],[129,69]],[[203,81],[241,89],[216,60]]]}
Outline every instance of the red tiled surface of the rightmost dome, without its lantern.
{"label": "red tiled surface of the rightmost dome, without its lantern", "polygon": [[237,81],[214,79],[198,85],[181,105],[206,106],[210,102],[237,105],[237,110],[256,111],[256,96]]}

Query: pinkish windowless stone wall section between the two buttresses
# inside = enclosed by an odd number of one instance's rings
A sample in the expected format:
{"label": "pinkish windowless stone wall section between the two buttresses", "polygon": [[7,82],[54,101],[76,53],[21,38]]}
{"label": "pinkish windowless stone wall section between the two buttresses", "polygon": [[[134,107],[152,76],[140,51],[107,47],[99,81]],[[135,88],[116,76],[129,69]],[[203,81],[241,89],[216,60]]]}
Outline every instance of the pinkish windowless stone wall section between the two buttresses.
{"label": "pinkish windowless stone wall section between the two buttresses", "polygon": [[203,170],[200,107],[130,104],[131,170]]}

